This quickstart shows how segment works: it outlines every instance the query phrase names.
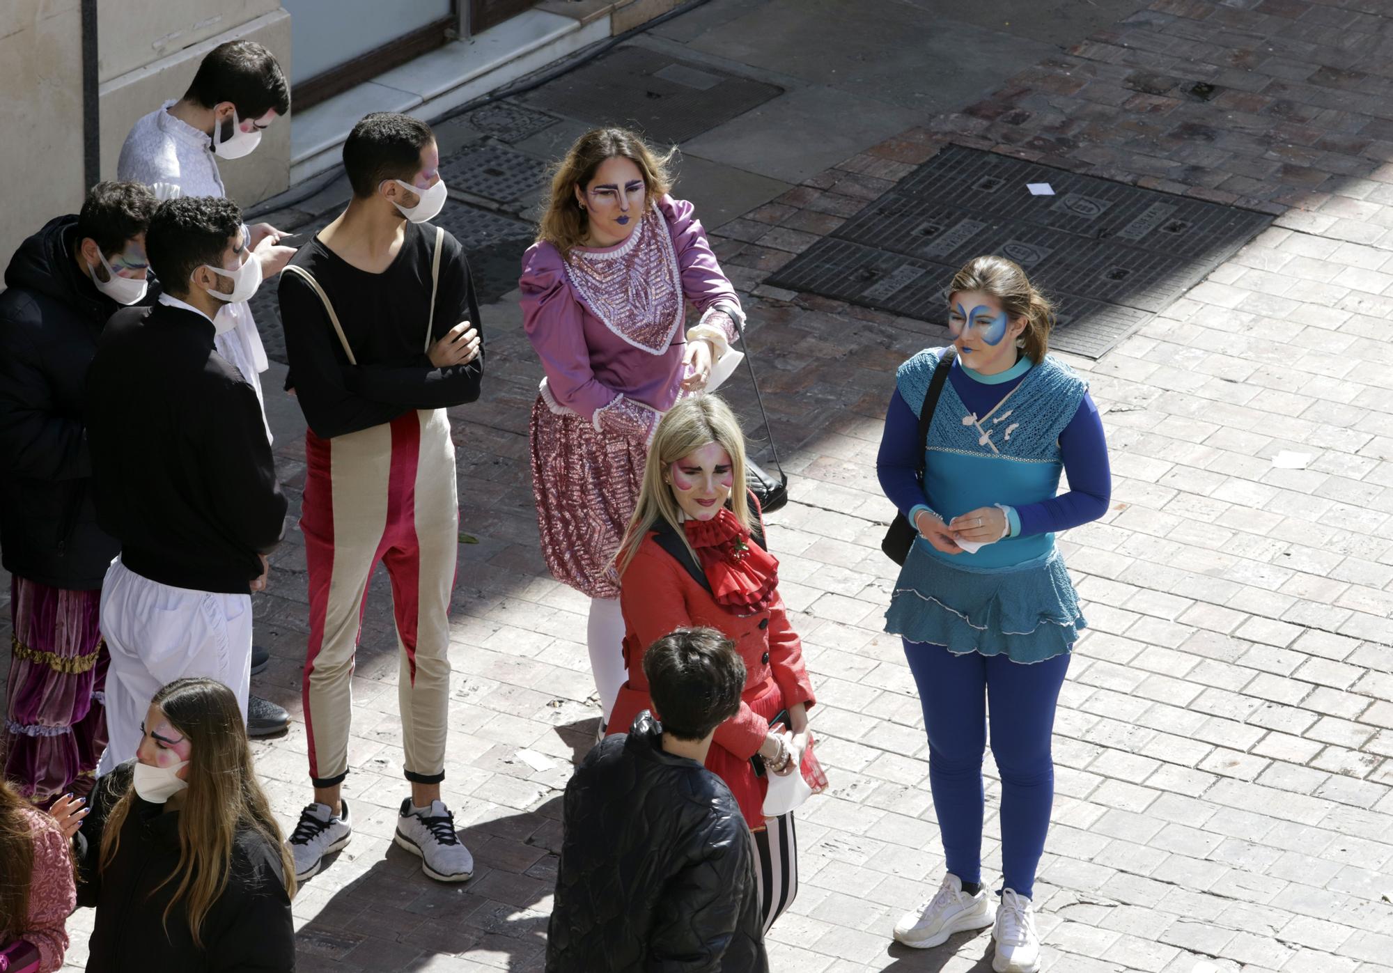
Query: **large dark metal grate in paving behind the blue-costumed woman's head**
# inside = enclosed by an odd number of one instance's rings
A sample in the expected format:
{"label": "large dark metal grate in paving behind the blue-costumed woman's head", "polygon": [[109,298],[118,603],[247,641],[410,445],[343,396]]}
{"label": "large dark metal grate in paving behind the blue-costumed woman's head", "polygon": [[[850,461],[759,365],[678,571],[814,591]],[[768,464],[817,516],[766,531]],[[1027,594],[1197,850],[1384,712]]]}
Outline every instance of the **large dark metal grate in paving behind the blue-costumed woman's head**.
{"label": "large dark metal grate in paving behind the blue-costumed woman's head", "polygon": [[[1055,195],[1034,197],[1028,183],[1049,183]],[[953,145],[769,283],[944,323],[953,273],[1000,254],[1057,304],[1050,343],[1098,358],[1270,222]]]}

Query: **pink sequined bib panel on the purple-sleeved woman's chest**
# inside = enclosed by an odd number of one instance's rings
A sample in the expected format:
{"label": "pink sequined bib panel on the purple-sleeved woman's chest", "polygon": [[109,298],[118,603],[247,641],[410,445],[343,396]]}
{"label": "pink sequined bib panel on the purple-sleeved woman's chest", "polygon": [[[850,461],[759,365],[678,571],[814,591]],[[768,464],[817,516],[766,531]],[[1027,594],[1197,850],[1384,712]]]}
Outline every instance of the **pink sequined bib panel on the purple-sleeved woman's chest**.
{"label": "pink sequined bib panel on the purple-sleeved woman's chest", "polygon": [[566,276],[610,332],[663,354],[683,323],[683,280],[673,240],[656,208],[612,250],[571,250]]}

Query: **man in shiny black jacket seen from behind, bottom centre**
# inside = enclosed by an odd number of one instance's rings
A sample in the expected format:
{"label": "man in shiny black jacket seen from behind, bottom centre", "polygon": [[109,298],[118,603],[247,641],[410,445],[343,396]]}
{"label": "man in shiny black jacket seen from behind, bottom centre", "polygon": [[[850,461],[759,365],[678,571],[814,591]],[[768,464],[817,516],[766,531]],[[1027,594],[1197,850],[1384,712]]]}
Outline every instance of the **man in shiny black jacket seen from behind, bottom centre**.
{"label": "man in shiny black jacket seen from behind, bottom centre", "polygon": [[768,970],[749,829],[703,765],[745,664],[716,629],[678,629],[644,675],[662,722],[642,711],[566,785],[546,973]]}

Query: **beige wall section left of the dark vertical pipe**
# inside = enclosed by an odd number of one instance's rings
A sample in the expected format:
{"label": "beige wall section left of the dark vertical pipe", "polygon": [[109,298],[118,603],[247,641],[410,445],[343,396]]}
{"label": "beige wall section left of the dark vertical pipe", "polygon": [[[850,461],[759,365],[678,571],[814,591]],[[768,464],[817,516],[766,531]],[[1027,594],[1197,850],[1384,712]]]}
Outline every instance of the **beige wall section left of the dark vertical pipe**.
{"label": "beige wall section left of the dark vertical pipe", "polygon": [[78,0],[0,0],[0,270],[82,181],[82,14]]}

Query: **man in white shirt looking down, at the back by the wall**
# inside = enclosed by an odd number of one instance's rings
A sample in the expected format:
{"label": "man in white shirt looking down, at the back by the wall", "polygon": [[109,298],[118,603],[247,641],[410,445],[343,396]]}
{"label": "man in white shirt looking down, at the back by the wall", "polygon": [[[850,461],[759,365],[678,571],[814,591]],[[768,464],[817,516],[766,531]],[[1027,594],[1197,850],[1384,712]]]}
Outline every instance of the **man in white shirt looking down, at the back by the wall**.
{"label": "man in white shirt looking down, at the back by the wall", "polygon": [[[145,183],[160,199],[224,197],[217,160],[248,155],[260,142],[262,131],[287,112],[290,88],[276,57],[254,40],[228,40],[203,57],[184,98],[166,102],[135,123],[121,146],[117,176]],[[280,245],[286,234],[269,223],[258,223],[247,233],[262,277],[280,273],[295,252]],[[269,362],[251,307],[235,301],[219,308],[213,326],[217,354],[237,367],[260,401],[259,375]],[[254,647],[254,655],[252,671],[260,672],[270,655],[260,647]],[[279,733],[288,725],[283,708],[251,697],[251,736]]]}

